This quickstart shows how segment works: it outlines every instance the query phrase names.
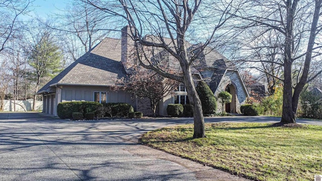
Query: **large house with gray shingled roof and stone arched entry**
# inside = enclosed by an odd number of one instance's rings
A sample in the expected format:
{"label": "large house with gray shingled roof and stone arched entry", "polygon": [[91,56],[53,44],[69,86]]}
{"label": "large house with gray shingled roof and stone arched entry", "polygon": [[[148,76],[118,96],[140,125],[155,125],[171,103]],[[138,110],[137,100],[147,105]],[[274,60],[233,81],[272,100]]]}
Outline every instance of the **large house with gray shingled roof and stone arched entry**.
{"label": "large house with gray shingled roof and stone arched entry", "polygon": [[[133,41],[128,36],[128,31],[128,26],[122,29],[121,39],[105,38],[44,85],[37,93],[43,95],[43,112],[57,115],[56,107],[60,102],[97,101],[128,103],[134,110],[150,115],[150,105],[146,99],[137,99],[122,91],[111,91],[116,80],[129,74],[135,65],[134,60],[129,58],[133,52]],[[168,61],[173,68],[180,70],[178,64],[172,63],[175,61],[171,56]],[[193,65],[192,72],[196,81],[203,79],[209,83],[215,96],[221,91],[232,94],[232,102],[226,105],[226,112],[238,113],[240,105],[249,97],[238,70],[215,50],[206,49],[199,56],[198,64]],[[158,114],[166,116],[170,103],[189,103],[184,85],[180,85],[174,94],[160,101]],[[220,110],[218,105],[218,111]]]}

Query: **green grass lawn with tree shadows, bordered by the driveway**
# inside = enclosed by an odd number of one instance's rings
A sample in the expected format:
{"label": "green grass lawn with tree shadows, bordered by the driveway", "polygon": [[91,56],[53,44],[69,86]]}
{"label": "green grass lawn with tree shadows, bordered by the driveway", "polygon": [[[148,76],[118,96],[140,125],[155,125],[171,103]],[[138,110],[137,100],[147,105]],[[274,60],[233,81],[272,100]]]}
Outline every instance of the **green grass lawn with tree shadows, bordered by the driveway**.
{"label": "green grass lawn with tree shadows, bordered by the driveway", "polygon": [[322,174],[322,126],[261,123],[206,124],[207,138],[192,139],[193,125],[150,131],[145,145],[255,180],[313,180]]}

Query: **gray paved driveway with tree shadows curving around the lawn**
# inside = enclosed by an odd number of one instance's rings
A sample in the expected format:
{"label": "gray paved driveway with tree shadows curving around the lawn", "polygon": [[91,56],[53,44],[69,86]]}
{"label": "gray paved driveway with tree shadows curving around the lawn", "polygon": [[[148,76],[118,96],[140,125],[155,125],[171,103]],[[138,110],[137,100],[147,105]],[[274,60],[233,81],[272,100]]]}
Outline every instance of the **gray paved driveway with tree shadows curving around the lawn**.
{"label": "gray paved driveway with tree shadows curving around the lawn", "polygon": [[40,113],[0,113],[0,180],[245,180],[137,144],[148,130],[186,123],[193,123],[193,119],[68,121]]}

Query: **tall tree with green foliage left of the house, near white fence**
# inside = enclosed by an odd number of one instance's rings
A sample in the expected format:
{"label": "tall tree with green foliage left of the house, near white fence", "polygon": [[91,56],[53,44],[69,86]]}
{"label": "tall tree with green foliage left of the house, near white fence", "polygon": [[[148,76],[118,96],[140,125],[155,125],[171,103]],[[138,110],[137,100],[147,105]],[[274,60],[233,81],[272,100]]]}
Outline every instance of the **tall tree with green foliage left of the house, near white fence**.
{"label": "tall tree with green foliage left of the house, near white fence", "polygon": [[36,80],[33,110],[35,110],[36,93],[44,77],[54,77],[62,67],[60,65],[62,53],[55,44],[55,39],[50,32],[44,30],[32,37],[33,41],[26,50],[28,63],[33,68],[33,75]]}

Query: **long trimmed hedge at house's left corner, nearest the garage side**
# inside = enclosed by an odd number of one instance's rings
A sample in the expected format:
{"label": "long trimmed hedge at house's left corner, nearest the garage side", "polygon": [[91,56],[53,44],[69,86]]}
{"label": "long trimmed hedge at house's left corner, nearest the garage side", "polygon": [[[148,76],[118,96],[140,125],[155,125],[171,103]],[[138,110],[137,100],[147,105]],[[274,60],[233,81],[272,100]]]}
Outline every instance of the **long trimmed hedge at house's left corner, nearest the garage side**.
{"label": "long trimmed hedge at house's left corner, nearest the garage side", "polygon": [[73,112],[82,113],[83,116],[86,113],[94,113],[95,115],[99,114],[99,108],[103,107],[102,104],[98,102],[90,101],[72,101],[72,102],[63,102],[57,105],[57,114],[60,119],[72,119]]}

